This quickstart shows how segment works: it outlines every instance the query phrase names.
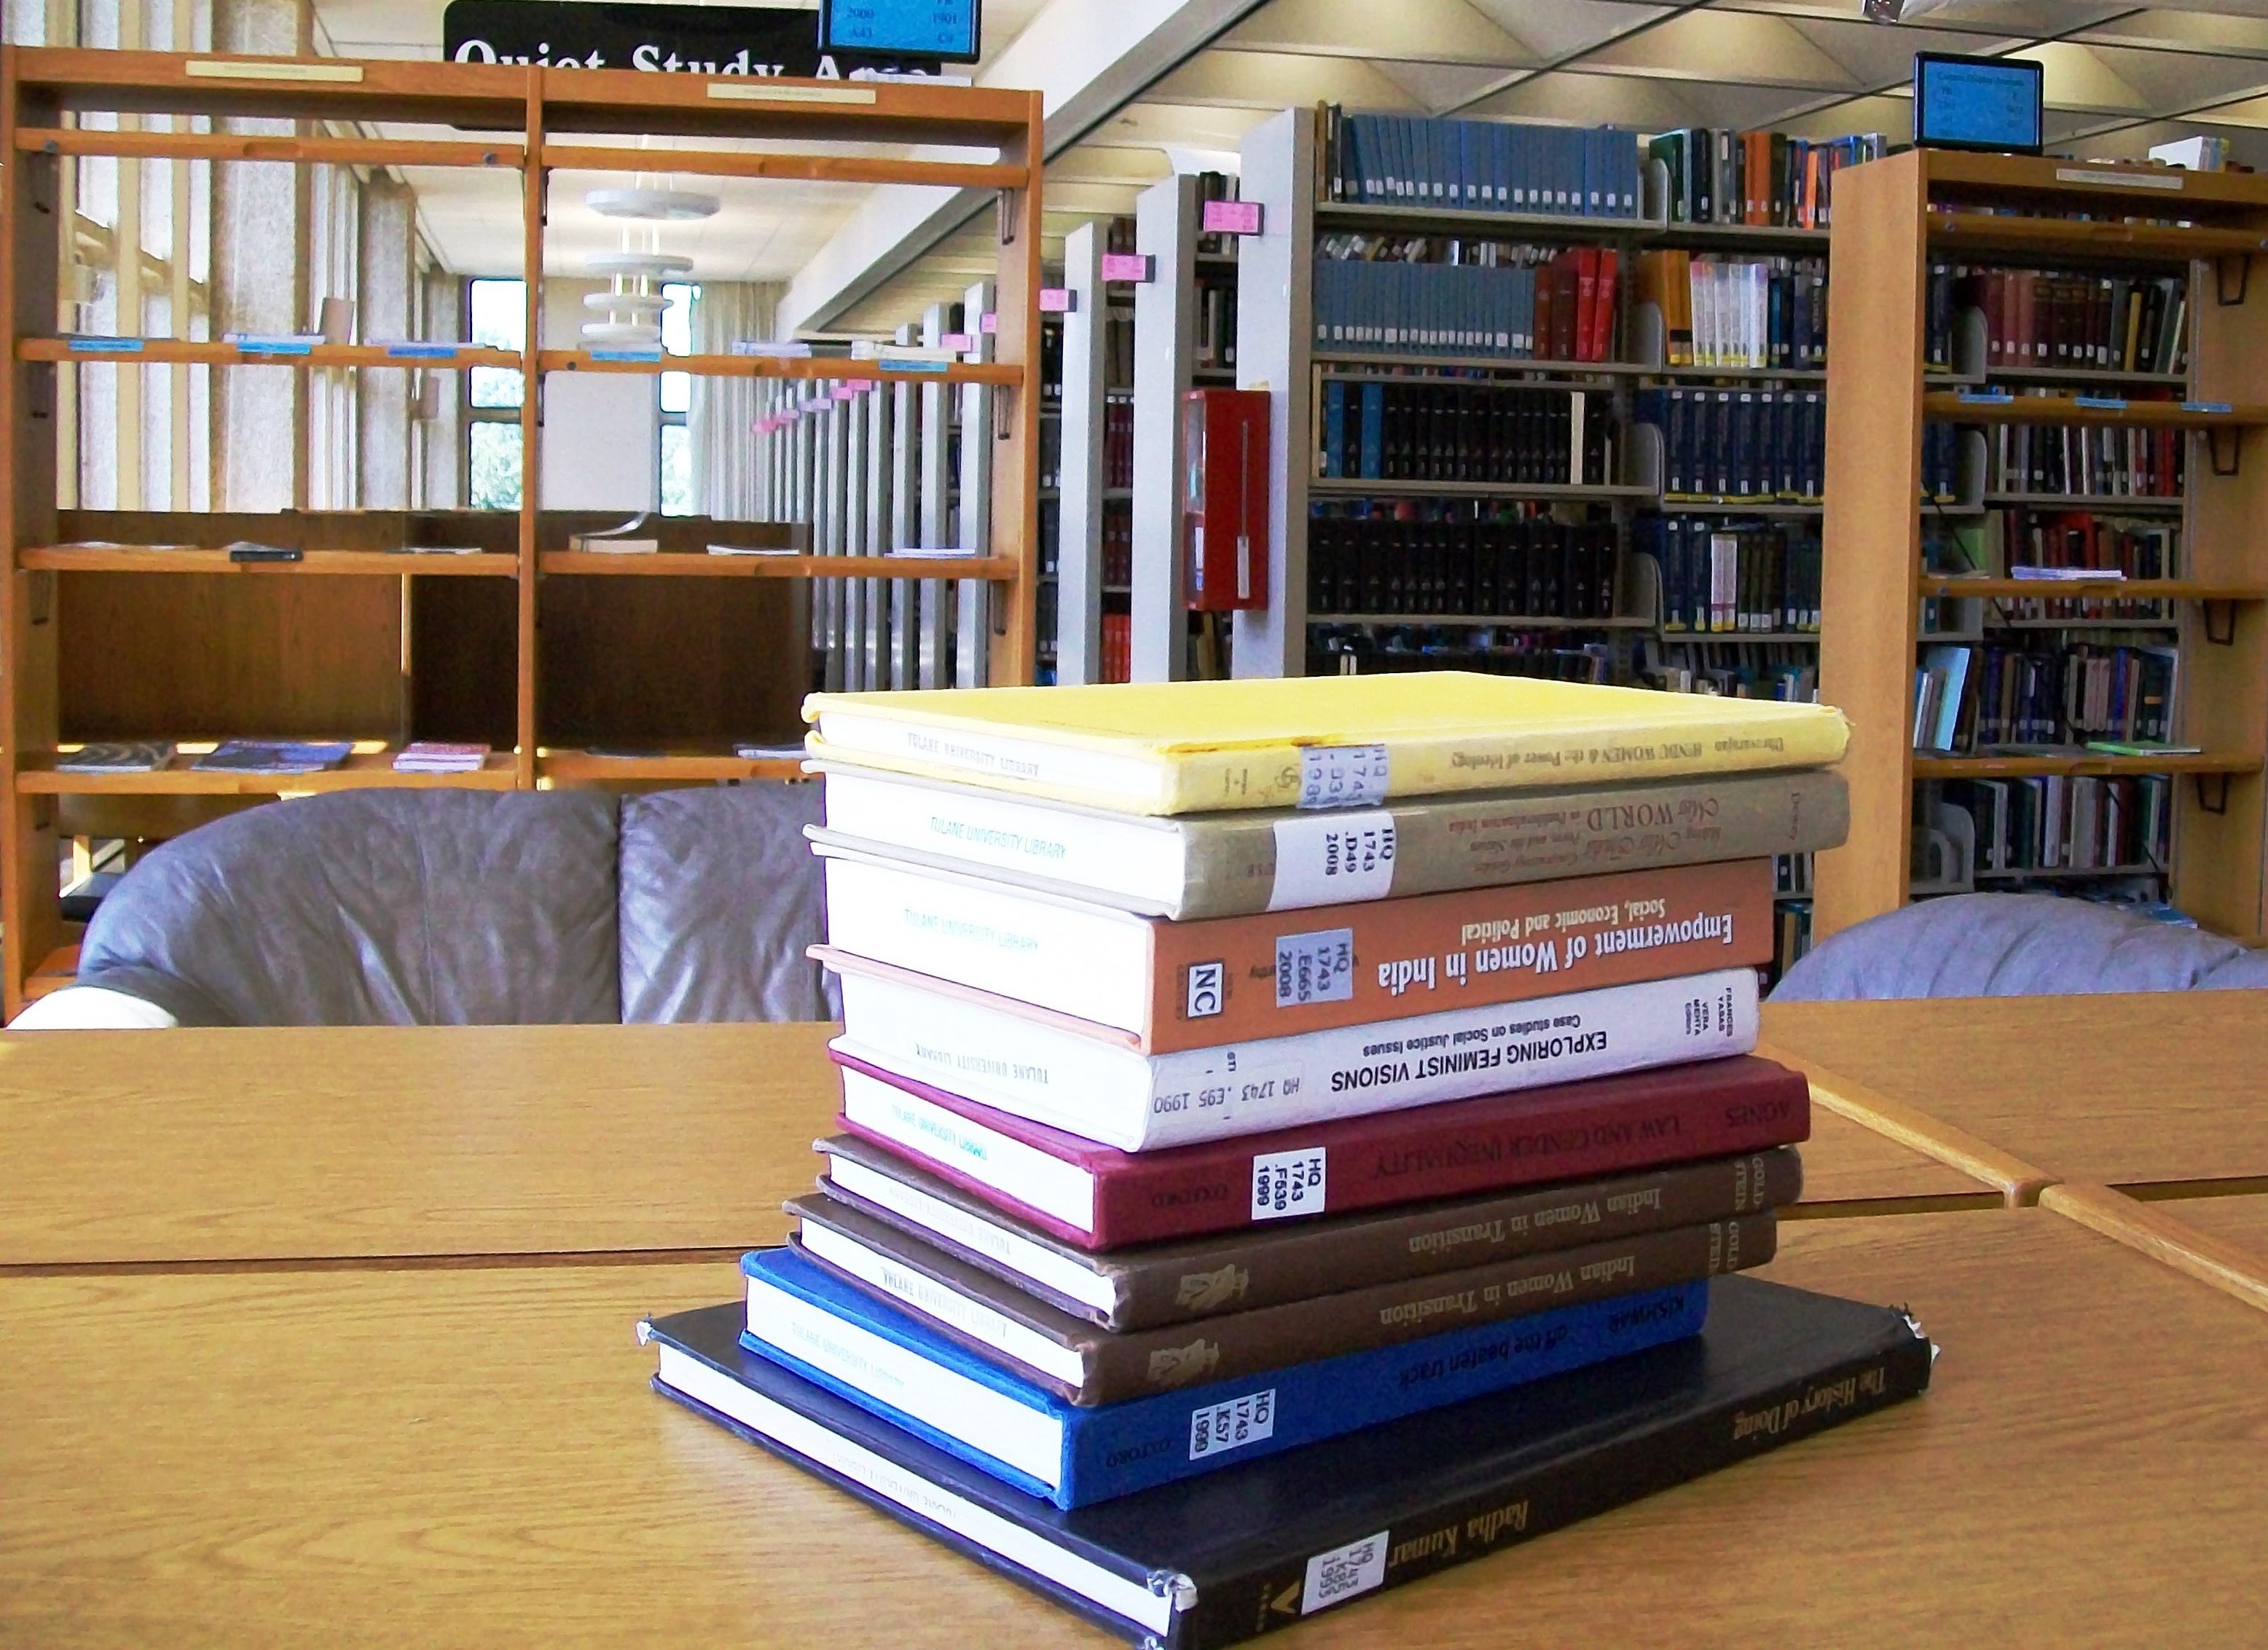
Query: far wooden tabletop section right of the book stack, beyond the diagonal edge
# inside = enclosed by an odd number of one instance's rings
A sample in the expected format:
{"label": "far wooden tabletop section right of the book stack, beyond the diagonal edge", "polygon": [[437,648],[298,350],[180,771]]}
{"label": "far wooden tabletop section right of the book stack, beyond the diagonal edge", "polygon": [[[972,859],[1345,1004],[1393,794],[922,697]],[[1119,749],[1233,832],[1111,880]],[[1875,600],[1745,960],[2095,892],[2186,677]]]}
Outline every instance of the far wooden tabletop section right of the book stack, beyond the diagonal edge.
{"label": "far wooden tabletop section right of the book stack, beyond the diagonal edge", "polygon": [[1765,1038],[2053,1179],[2268,1190],[2263,993],[1799,1002]]}

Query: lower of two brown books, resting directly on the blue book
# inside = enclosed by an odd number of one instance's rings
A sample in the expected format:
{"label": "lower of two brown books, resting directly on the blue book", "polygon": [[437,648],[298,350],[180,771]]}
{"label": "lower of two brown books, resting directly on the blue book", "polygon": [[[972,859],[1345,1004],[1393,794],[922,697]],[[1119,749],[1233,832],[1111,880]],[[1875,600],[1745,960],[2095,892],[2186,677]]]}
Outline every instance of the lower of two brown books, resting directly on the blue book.
{"label": "lower of two brown books, resting directly on the blue book", "polygon": [[787,1213],[810,1260],[1082,1407],[1744,1271],[1771,1260],[1778,1235],[1767,1210],[1114,1335],[848,1204],[798,1197]]}

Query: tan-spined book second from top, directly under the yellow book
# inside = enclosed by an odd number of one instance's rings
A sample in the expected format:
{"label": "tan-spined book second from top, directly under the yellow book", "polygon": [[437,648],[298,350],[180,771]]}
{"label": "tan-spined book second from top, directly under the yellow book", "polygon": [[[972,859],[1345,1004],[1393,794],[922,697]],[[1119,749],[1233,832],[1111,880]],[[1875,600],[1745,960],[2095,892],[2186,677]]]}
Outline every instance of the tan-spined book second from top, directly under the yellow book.
{"label": "tan-spined book second from top, directly under the yellow book", "polygon": [[819,841],[1177,920],[1837,848],[1821,768],[1145,818],[826,762]]}

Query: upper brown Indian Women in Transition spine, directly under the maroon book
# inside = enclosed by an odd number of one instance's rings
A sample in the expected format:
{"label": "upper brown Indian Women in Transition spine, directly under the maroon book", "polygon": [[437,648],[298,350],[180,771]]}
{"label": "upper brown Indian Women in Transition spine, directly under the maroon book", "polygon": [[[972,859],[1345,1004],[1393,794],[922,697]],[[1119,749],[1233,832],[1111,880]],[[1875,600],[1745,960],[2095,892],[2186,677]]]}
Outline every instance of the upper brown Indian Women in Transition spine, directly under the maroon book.
{"label": "upper brown Indian Women in Transition spine, directly under the maroon book", "polygon": [[1696,1226],[1794,1204],[1803,1167],[1787,1147],[1508,1197],[1429,1201],[1413,1215],[1254,1231],[1220,1244],[1114,1258],[1118,1330],[1304,1301],[1399,1278],[1510,1262],[1576,1244]]}

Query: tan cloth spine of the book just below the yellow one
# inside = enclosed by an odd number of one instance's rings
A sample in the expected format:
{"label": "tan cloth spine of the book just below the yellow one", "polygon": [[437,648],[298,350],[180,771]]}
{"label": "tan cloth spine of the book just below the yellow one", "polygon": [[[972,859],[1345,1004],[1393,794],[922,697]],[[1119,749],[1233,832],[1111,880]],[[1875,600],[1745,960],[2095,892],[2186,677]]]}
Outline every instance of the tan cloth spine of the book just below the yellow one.
{"label": "tan cloth spine of the book just below the yellow one", "polygon": [[[1404,802],[1361,818],[1191,820],[1182,920],[1411,898],[1835,848],[1851,800],[1835,773],[1710,775],[1486,800]],[[1386,868],[1386,886],[1379,870]]]}

